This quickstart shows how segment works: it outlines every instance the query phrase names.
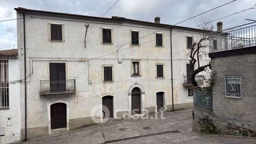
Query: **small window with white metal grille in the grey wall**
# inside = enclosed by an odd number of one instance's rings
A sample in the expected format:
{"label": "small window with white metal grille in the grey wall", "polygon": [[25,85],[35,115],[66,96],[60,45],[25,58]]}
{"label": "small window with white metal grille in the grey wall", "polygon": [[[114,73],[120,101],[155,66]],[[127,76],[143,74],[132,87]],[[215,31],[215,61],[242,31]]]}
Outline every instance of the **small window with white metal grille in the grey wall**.
{"label": "small window with white metal grille in the grey wall", "polygon": [[241,76],[225,76],[226,97],[242,98]]}

